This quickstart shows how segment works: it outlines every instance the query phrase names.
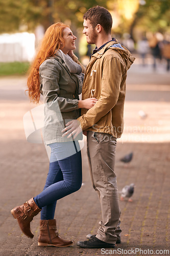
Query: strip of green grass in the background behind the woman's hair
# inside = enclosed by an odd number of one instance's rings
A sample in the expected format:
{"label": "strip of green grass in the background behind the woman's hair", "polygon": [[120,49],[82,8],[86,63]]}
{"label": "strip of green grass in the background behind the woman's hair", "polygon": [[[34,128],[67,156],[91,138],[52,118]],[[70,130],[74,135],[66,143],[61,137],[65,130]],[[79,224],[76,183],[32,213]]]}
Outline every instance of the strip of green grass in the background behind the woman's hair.
{"label": "strip of green grass in the background behind the woman's hair", "polygon": [[29,62],[0,62],[0,76],[25,75]]}

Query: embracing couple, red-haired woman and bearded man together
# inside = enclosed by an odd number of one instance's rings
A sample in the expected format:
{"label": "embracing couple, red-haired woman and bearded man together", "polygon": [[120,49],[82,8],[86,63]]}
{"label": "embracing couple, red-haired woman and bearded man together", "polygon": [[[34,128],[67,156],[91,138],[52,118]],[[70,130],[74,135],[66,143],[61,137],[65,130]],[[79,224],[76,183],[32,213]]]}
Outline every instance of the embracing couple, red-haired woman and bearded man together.
{"label": "embracing couple, red-haired woman and bearded man together", "polygon": [[27,82],[30,99],[38,103],[42,94],[45,104],[43,136],[51,147],[50,167],[43,191],[13,208],[11,214],[22,232],[33,238],[30,222],[41,211],[39,246],[72,244],[59,236],[54,216],[57,200],[81,187],[78,141],[82,132],[87,136],[90,176],[102,220],[98,232],[77,245],[114,248],[121,242],[114,164],[116,139],[123,132],[127,70],[134,57],[111,37],[112,16],[107,9],[90,8],[83,19],[87,43],[96,46],[86,69],[73,53],[76,36],[68,26],[56,23],[45,32]]}

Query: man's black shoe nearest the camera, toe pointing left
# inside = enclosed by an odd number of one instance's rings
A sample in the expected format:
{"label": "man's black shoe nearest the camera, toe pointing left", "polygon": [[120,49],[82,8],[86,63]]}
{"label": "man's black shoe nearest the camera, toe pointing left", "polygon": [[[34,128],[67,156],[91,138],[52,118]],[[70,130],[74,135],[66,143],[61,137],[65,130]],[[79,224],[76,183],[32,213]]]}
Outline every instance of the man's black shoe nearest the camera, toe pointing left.
{"label": "man's black shoe nearest the camera, toe pointing left", "polygon": [[84,242],[77,242],[77,245],[83,248],[114,248],[115,244],[105,243],[96,237]]}

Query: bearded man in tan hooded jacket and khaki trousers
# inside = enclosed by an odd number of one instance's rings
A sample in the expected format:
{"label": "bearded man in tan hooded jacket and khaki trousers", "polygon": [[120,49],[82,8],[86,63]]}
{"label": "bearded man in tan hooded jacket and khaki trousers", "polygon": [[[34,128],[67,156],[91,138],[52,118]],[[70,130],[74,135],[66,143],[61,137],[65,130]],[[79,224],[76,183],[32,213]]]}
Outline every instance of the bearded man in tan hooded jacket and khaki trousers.
{"label": "bearded man in tan hooded jacket and khaki trousers", "polygon": [[[131,53],[111,37],[112,17],[107,9],[96,6],[83,16],[88,44],[96,49],[87,65],[82,99],[98,101],[82,116],[66,124],[68,137],[76,137],[81,129],[87,134],[87,154],[93,188],[98,191],[102,220],[96,235],[79,241],[83,248],[114,248],[120,243],[120,209],[116,174],[114,172],[116,139],[123,132],[123,114],[127,70],[134,61]],[[80,126],[81,124],[81,126]]]}

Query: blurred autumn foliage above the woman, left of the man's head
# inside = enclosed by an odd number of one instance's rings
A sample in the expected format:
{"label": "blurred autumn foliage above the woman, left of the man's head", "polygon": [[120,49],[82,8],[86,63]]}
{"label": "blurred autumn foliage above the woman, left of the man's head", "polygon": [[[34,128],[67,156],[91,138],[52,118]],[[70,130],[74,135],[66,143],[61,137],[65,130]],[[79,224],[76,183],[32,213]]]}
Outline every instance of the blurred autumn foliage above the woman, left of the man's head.
{"label": "blurred autumn foliage above the woman, left of the man's head", "polygon": [[55,22],[82,26],[82,16],[92,6],[106,7],[106,0],[0,0],[0,32],[46,29]]}

